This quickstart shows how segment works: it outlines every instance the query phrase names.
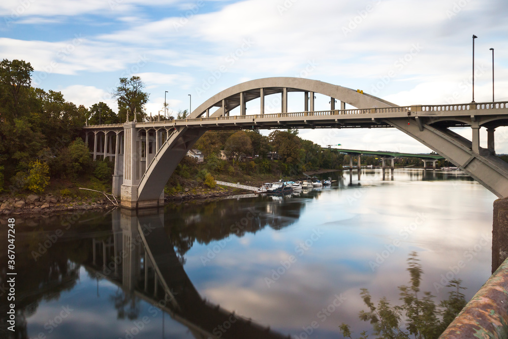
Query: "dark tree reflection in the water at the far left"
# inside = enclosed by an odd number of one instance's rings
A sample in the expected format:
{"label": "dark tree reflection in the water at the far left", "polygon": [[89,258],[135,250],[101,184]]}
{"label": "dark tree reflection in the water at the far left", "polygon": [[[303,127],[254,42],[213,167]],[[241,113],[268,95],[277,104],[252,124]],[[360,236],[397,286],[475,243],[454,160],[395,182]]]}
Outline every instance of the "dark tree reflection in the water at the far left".
{"label": "dark tree reflection in the water at the far left", "polygon": [[[76,227],[60,227],[61,237],[49,240],[60,225],[60,218],[16,220],[16,332],[7,331],[8,293],[0,296],[0,337],[3,332],[13,338],[27,338],[26,318],[35,314],[42,301],[58,300],[62,292],[70,291],[79,280],[80,262],[90,253],[90,239],[83,239]],[[97,225],[96,225],[97,226]],[[88,224],[86,230],[96,226]],[[64,231],[65,230],[65,231]],[[111,232],[111,224],[109,224]],[[46,247],[44,247],[46,243]],[[7,237],[0,248],[7,248]],[[6,251],[7,252],[7,251]],[[7,253],[0,254],[0,286],[8,287]],[[35,259],[34,259],[35,257]],[[49,319],[48,319],[49,320]]]}

